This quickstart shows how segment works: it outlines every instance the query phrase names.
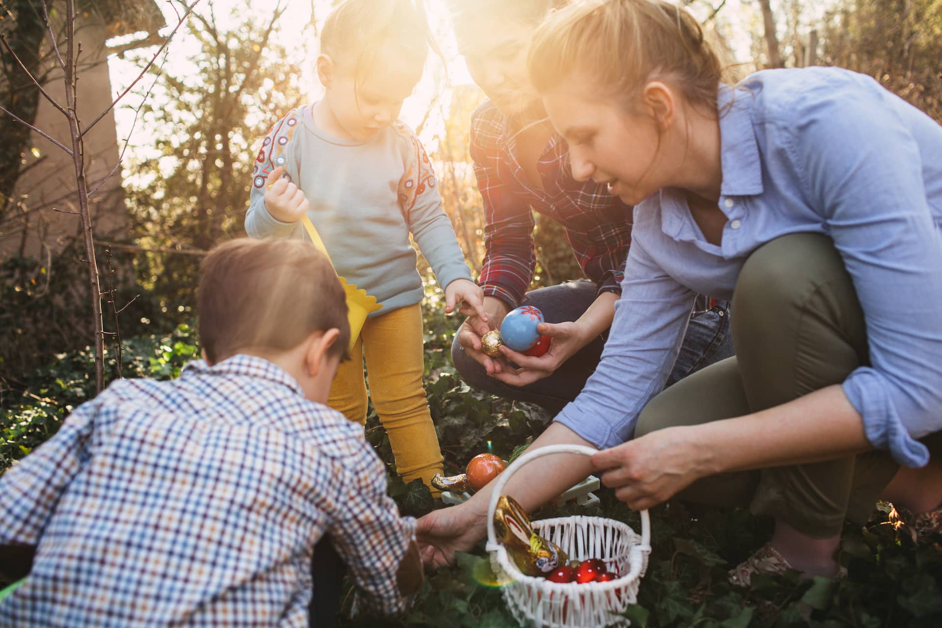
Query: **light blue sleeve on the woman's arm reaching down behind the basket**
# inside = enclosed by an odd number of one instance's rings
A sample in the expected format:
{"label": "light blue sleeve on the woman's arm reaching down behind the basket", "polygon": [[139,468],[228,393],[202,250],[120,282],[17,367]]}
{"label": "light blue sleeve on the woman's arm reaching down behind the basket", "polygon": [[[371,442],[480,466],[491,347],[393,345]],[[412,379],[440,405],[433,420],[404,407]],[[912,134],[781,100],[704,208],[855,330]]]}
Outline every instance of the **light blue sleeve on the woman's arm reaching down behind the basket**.
{"label": "light blue sleeve on the woman's arm reaching down behind the basket", "polygon": [[[641,208],[640,208],[641,210]],[[676,282],[636,238],[602,360],[556,421],[599,449],[632,437],[638,415],[664,387],[690,320],[695,294]]]}

